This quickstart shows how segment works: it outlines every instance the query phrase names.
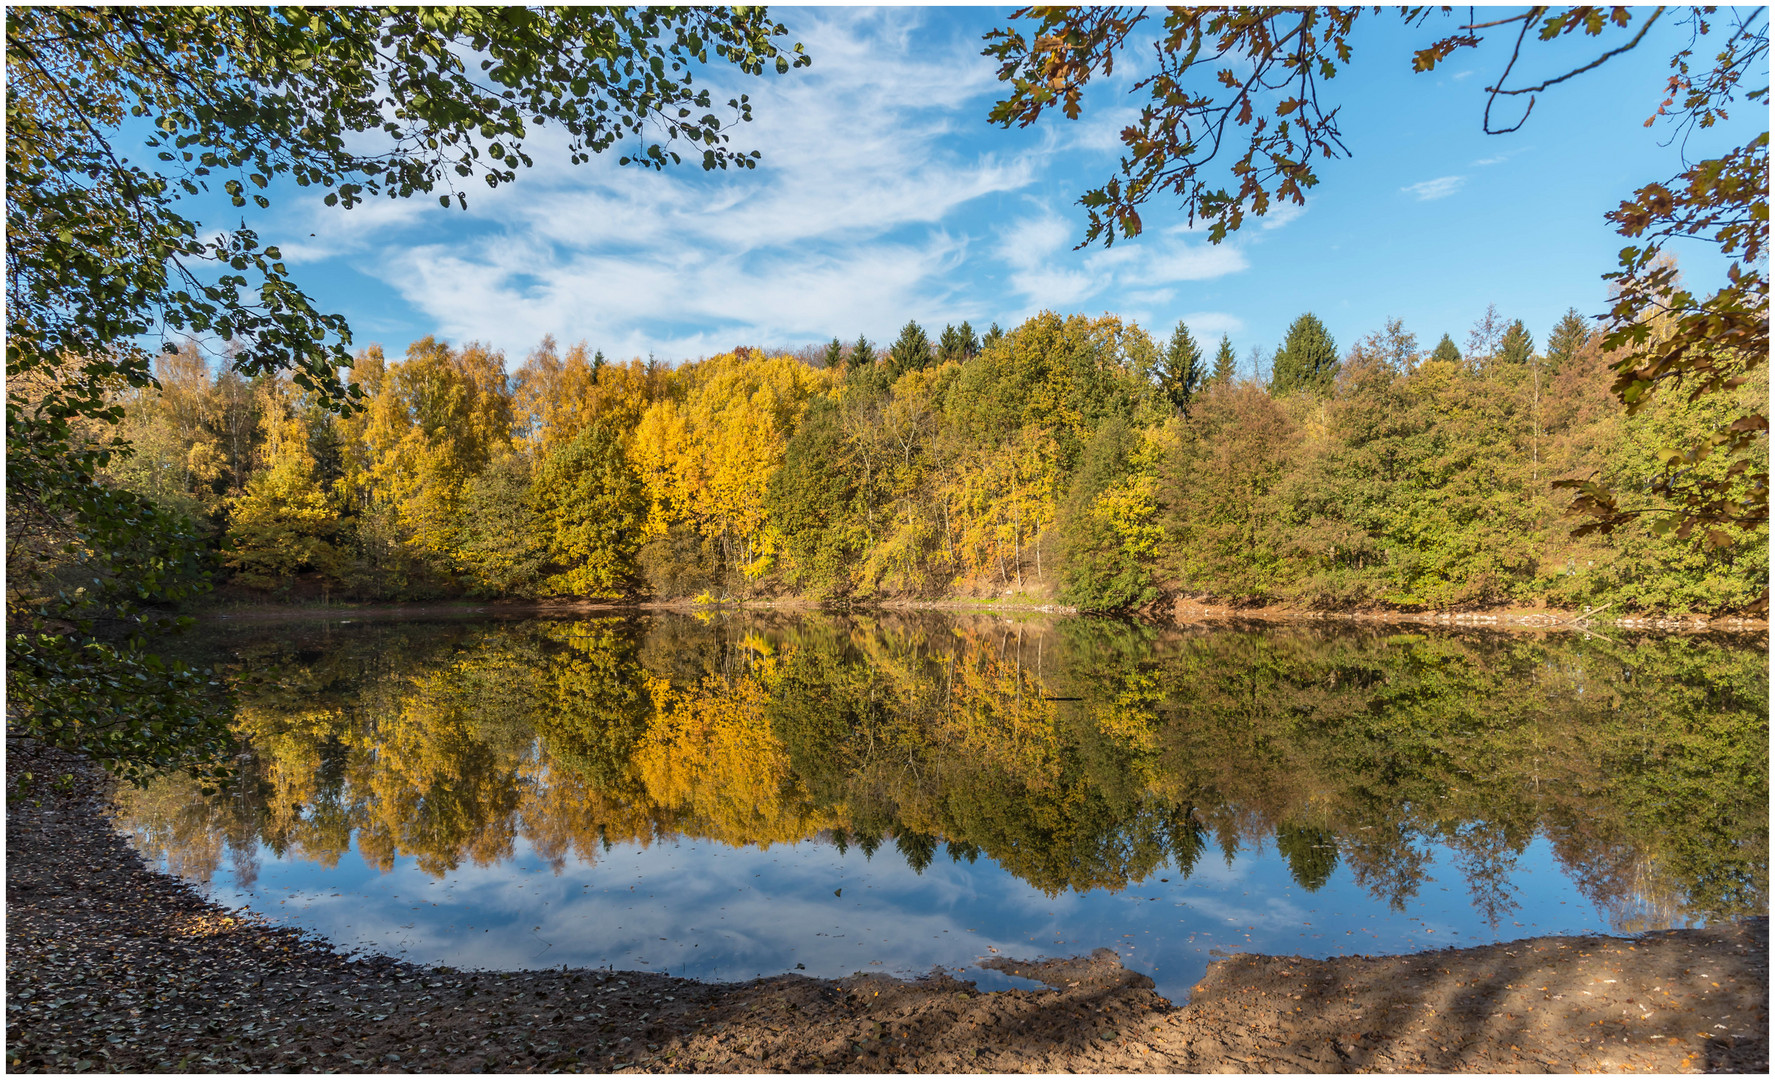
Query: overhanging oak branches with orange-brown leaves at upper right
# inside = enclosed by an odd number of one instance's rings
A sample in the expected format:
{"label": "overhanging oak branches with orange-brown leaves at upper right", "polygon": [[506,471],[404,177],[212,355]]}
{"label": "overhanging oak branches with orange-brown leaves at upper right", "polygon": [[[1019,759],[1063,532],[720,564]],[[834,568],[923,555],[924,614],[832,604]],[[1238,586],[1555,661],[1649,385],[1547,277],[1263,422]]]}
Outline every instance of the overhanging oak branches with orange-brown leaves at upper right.
{"label": "overhanging oak branches with orange-brown leaves at upper right", "polygon": [[[1502,75],[1486,80],[1484,130],[1514,131],[1528,121],[1535,94],[1633,52],[1667,12],[1667,7],[1603,12],[1573,5],[1487,16],[1482,23],[1452,27],[1452,34],[1418,48],[1413,69],[1434,71],[1459,50],[1512,43],[1500,57]],[[1438,14],[1452,12],[1402,9],[1413,27]],[[1317,162],[1349,155],[1331,80],[1354,62],[1353,32],[1363,9],[1173,7],[1163,16],[1157,41],[1136,32],[1148,18],[1154,16],[1140,7],[1024,7],[1012,14],[1014,25],[987,34],[985,52],[999,60],[999,80],[1006,83],[990,119],[1003,126],[1030,126],[1056,107],[1077,119],[1092,78],[1108,76],[1122,50],[1156,46],[1154,68],[1129,89],[1148,101],[1136,108],[1138,123],[1122,128],[1127,153],[1118,174],[1079,197],[1088,215],[1085,243],[1138,236],[1140,211],[1154,197],[1179,199],[1193,222],[1207,218],[1209,240],[1219,243],[1244,224],[1246,213],[1262,217],[1278,199],[1303,204],[1306,188],[1319,183]],[[1770,50],[1766,9],[1722,14],[1692,7],[1670,18],[1686,23],[1688,37],[1677,34],[1668,94],[1647,126],[1663,117],[1676,128],[1670,140],[1683,135],[1686,146],[1692,130],[1715,126],[1740,99],[1768,105],[1768,82],[1759,75]],[[1019,21],[1028,23],[1028,34]],[[1511,25],[1516,34],[1507,32]],[[1619,44],[1539,83],[1512,83],[1525,52],[1578,34]],[[1702,36],[1709,36],[1711,66],[1695,71],[1693,41]],[[1528,68],[1525,62],[1523,69]],[[1241,75],[1230,75],[1234,69]],[[1528,105],[1512,114],[1514,124],[1495,119],[1496,105],[1519,98]],[[1228,123],[1235,133],[1242,128],[1246,139],[1228,139]],[[1205,171],[1223,147],[1241,144],[1242,153],[1234,149],[1239,156],[1230,167],[1237,190],[1228,190]],[[1628,412],[1644,409],[1661,387],[1688,387],[1692,394],[1732,391],[1768,362],[1768,155],[1764,126],[1715,158],[1684,160],[1676,176],[1640,187],[1605,215],[1633,242],[1621,249],[1619,270],[1605,275],[1613,293],[1605,348],[1621,353],[1612,364],[1613,393]],[[1690,238],[1702,238],[1732,259],[1725,284],[1700,298],[1681,286],[1665,250],[1667,243]],[[1489,350],[1473,352],[1491,357]],[[1754,407],[1684,444],[1677,451],[1679,467],[1656,490],[1656,504],[1622,506],[1621,494],[1598,480],[1560,481],[1578,490],[1573,510],[1594,519],[1580,531],[1606,533],[1651,513],[1668,520],[1677,538],[1700,529],[1711,545],[1752,540],[1768,522],[1764,412]],[[1731,460],[1731,474],[1722,481],[1688,480],[1692,467],[1715,453]]]}

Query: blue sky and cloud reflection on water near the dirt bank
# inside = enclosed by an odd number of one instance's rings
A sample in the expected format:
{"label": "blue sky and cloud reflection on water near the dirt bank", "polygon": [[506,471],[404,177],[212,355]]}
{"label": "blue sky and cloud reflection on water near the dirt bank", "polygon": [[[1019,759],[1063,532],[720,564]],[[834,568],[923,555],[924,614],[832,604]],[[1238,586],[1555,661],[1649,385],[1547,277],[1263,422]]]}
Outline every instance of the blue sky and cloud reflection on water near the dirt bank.
{"label": "blue sky and cloud reflection on water near the dirt bank", "polygon": [[[1241,851],[1232,865],[1203,851],[1187,879],[1161,869],[1122,893],[1053,899],[985,856],[951,862],[939,849],[914,874],[891,844],[864,858],[811,840],[767,851],[712,840],[616,846],[596,865],[568,862],[559,874],[518,840],[513,858],[444,878],[412,858],[380,874],[355,851],[327,869],[261,847],[252,888],[224,869],[209,893],[346,949],[458,968],[612,966],[710,981],[795,970],[921,975],[992,956],[1109,947],[1172,1000],[1187,997],[1211,950],[1353,956],[1608,927],[1546,840],[1516,860],[1509,881],[1519,906],[1496,929],[1473,909],[1454,854],[1429,851],[1427,878],[1402,913],[1369,895],[1344,863],[1324,888],[1305,892],[1273,844]],[[980,977],[982,989],[1010,984]]]}

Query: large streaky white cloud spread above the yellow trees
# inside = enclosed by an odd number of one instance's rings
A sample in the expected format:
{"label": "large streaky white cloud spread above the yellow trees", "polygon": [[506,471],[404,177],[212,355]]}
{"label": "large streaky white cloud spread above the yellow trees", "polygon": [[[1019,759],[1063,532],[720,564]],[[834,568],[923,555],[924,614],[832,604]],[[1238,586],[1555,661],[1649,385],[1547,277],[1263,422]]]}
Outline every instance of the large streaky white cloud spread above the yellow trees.
{"label": "large streaky white cloud spread above the yellow trees", "polygon": [[[422,197],[312,210],[286,231],[314,236],[286,254],[343,259],[396,291],[410,322],[511,362],[543,334],[682,359],[738,343],[884,339],[907,316],[1012,325],[1017,311],[1136,295],[1164,314],[1173,286],[1248,266],[1235,242],[1209,245],[1200,227],[1074,250],[1083,213],[1056,208],[1072,194],[1037,185],[1113,149],[1129,108],[983,139],[999,83],[976,39],[930,34],[907,9],[795,9],[788,21],[815,66],[710,75],[717,99],[753,96],[758,119],[735,130],[735,146],[763,151],[756,169],[650,172],[619,167],[616,153],[573,167],[545,130],[527,146],[536,167],[470,192],[467,215]],[[1006,204],[1026,210],[1012,217]],[[1278,206],[1264,226],[1298,215]]]}

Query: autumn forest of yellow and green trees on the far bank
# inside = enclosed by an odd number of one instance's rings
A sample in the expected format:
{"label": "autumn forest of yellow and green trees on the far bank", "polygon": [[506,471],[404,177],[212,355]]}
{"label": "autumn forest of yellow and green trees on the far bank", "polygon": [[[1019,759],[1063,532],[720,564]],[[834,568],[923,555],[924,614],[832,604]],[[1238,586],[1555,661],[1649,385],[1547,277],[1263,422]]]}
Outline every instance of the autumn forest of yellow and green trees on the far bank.
{"label": "autumn forest of yellow and green trees on the far bank", "polygon": [[1544,345],[1487,309],[1463,345],[1393,320],[1344,350],[1301,314],[1266,362],[1051,311],[676,366],[426,338],[360,350],[346,416],[195,346],[156,368],[115,394],[133,449],[105,480],[186,522],[236,599],[1711,615],[1768,583],[1766,524],[1574,536],[1555,481],[1658,490],[1768,394],[1759,368],[1626,416],[1576,311]]}

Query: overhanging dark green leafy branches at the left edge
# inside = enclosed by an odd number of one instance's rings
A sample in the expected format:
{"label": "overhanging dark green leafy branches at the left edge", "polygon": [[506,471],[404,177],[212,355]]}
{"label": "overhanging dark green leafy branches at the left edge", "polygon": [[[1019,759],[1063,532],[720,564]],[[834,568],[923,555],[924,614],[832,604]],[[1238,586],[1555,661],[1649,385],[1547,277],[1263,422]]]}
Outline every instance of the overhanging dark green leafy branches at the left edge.
{"label": "overhanging dark green leafy branches at the left edge", "polygon": [[[115,425],[110,394],[153,382],[144,338],[213,336],[243,373],[289,371],[323,403],[359,401],[339,378],[350,366],[344,320],[316,309],[254,229],[201,227],[183,199],[213,192],[264,210],[270,185],[289,178],[321,188],[328,206],[440,185],[453,192],[446,204],[467,206],[460,179],[515,179],[532,162],[524,140],[548,126],[564,131],[575,163],[634,135],[643,142],[625,160],[644,167],[676,162],[678,144],[698,146],[705,169],[751,167],[756,153],[730,144],[692,73],[708,55],[751,75],[806,64],[799,46],[779,48],[781,34],[763,9],[9,12],[7,517],[36,522],[9,540],[41,542],[9,561],[16,728],[98,753],[76,727],[117,698],[82,695],[105,680],[160,679],[138,636],[101,643],[94,618],[142,627],[137,599],[162,595],[163,574],[128,552],[142,551],[144,528],[165,526],[154,544],[163,552],[185,540],[172,519],[98,481],[121,448],[80,430]],[[751,115],[744,96],[730,110]],[[138,130],[153,167],[124,147]],[[648,142],[650,131],[662,140]],[[60,551],[62,533],[108,565]],[[51,599],[53,574],[82,560],[98,581],[128,588]],[[146,723],[131,716],[110,728],[98,757],[124,760],[131,739],[142,757],[163,757],[172,735],[149,735]],[[163,730],[213,746],[218,723],[186,711]]]}

